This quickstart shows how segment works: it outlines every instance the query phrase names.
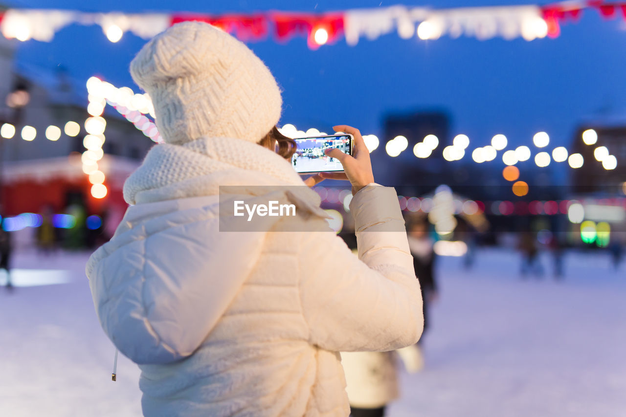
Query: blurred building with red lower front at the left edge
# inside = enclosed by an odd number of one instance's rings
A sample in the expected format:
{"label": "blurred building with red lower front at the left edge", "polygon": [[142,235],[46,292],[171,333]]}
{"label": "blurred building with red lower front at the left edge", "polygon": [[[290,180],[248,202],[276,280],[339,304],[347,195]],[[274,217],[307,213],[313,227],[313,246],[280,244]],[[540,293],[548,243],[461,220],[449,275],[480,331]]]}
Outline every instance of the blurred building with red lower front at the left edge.
{"label": "blurred building with red lower front at the left edge", "polygon": [[[14,42],[0,36],[0,215],[64,214],[81,207],[85,217],[115,212],[108,217],[119,220],[127,206],[123,182],[153,142],[106,106],[104,155],[98,160],[106,195],[95,196],[81,162],[90,117],[86,80],[73,80],[62,68],[16,65]],[[14,222],[13,229],[19,225]]]}

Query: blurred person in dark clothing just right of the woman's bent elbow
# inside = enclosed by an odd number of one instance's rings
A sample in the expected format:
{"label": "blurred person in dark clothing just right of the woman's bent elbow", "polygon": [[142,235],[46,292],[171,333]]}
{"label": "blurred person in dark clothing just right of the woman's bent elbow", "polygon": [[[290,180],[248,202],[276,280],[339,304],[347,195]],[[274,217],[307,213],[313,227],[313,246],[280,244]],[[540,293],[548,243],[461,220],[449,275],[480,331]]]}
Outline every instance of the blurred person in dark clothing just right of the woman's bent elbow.
{"label": "blurred person in dark clothing just right of the woman's bent elbow", "polygon": [[[437,282],[434,276],[436,255],[434,253],[434,240],[429,235],[429,222],[424,218],[414,219],[408,225],[408,241],[411,255],[413,255],[413,267],[421,287],[424,314],[424,332],[429,328],[429,307],[438,299]],[[419,343],[423,341],[419,339]],[[421,356],[421,349],[418,350]],[[423,363],[423,359],[420,360]],[[423,364],[421,365],[423,366]],[[420,366],[420,368],[421,368]]]}

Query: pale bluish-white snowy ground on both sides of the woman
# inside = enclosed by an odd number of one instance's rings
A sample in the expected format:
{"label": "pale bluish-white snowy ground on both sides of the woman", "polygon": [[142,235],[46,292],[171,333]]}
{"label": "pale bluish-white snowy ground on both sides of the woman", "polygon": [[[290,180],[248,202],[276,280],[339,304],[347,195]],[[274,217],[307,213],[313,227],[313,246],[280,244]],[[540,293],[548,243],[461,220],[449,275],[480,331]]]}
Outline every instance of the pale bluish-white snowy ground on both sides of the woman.
{"label": "pale bluish-white snowy ground on both sides of the woman", "polygon": [[[136,366],[120,356],[111,381],[115,349],[96,319],[86,257],[16,255],[18,287],[0,291],[0,416],[141,414]],[[469,272],[440,261],[426,367],[403,374],[387,415],[626,415],[626,265],[570,253],[556,282],[521,280],[506,250],[479,252]]]}

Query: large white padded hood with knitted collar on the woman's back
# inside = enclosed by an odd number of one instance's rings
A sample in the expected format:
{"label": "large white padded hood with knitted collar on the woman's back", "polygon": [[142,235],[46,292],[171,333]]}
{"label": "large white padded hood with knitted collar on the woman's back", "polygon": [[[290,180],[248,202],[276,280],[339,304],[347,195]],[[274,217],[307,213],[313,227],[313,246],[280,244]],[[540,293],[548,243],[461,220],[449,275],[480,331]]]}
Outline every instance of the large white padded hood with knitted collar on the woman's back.
{"label": "large white padded hood with knitted collar on the woman's back", "polygon": [[[238,153],[220,152],[232,143]],[[103,329],[135,363],[192,354],[252,272],[265,232],[280,220],[265,218],[261,231],[223,231],[233,221],[220,210],[223,185],[237,186],[253,202],[272,193],[293,203],[300,217],[326,217],[317,193],[289,163],[255,143],[202,138],[156,145],[125,183],[125,198],[136,205],[86,267]]]}

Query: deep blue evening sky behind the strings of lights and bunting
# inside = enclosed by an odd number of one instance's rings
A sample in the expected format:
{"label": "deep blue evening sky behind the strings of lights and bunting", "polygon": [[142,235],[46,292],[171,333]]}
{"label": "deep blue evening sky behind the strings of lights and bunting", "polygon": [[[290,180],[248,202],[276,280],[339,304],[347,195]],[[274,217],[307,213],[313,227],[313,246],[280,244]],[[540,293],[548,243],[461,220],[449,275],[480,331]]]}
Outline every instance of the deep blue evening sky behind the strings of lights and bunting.
{"label": "deep blue evening sky behind the strings of lights and bunting", "polygon": [[[356,0],[222,1],[200,0],[9,0],[8,6],[82,11],[334,11],[376,8],[396,2]],[[544,2],[545,3],[545,2]],[[510,0],[436,3],[407,1],[410,6],[448,8],[518,4]],[[531,144],[536,131],[550,134],[551,145],[570,148],[583,117],[626,108],[625,25],[587,10],[578,23],[562,27],[557,39],[475,38],[421,41],[388,34],[376,41],[344,39],[310,51],[304,38],[279,44],[269,38],[250,43],[284,89],[282,123],[299,128],[346,123],[364,133],[381,133],[389,111],[441,108],[452,119],[451,133],[465,133],[470,147],[487,145],[504,133],[513,145]],[[125,34],[110,43],[98,26],[62,29],[52,43],[28,41],[18,59],[46,68],[63,65],[74,78],[100,75],[121,86],[133,85],[128,64],[145,43]],[[419,138],[421,139],[421,138]],[[552,146],[550,147],[552,148]]]}

